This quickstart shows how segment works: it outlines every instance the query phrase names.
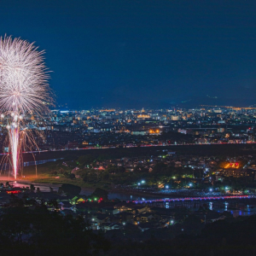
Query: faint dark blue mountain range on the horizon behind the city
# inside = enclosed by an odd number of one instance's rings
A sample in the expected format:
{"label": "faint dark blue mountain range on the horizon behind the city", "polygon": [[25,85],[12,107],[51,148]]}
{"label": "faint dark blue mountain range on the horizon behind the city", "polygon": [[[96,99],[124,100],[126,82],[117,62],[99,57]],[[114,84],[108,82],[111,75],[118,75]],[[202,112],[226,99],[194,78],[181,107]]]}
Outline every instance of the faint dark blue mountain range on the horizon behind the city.
{"label": "faint dark blue mountain range on the horizon behind the city", "polygon": [[217,96],[194,96],[190,98],[172,98],[172,99],[144,99],[143,96],[138,99],[131,99],[128,96],[118,95],[112,92],[95,93],[91,91],[70,91],[68,96],[57,95],[57,102],[69,108],[171,108],[177,106],[180,108],[195,108],[200,105],[212,106],[234,106],[248,107],[256,104],[256,99],[247,98],[224,98]]}

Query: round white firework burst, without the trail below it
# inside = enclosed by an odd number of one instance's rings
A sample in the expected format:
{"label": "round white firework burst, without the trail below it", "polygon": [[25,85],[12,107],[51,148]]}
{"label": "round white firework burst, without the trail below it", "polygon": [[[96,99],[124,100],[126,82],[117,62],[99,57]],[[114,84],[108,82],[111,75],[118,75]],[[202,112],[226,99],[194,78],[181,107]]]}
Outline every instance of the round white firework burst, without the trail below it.
{"label": "round white firework burst, without the trail below it", "polygon": [[0,109],[42,113],[50,101],[44,51],[20,38],[0,40]]}

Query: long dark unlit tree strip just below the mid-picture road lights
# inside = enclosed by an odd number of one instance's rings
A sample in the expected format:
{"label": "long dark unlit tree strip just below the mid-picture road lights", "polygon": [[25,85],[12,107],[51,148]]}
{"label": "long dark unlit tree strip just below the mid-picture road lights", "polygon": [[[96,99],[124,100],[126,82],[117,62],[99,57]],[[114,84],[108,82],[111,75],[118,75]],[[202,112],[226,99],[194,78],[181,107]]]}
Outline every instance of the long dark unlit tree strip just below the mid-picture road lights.
{"label": "long dark unlit tree strip just below the mid-picture road lights", "polygon": [[[245,150],[246,149],[246,150]],[[135,157],[142,155],[155,155],[162,150],[174,151],[179,154],[190,155],[222,155],[222,156],[238,156],[243,154],[255,154],[256,145],[254,144],[222,144],[222,145],[177,145],[166,147],[136,147],[136,148],[99,148],[99,149],[81,149],[81,150],[65,150],[50,151],[32,154],[23,154],[24,161],[47,160],[64,158],[73,160],[84,154],[92,154],[96,158],[100,155],[108,155],[109,159],[122,157]],[[35,157],[35,159],[33,158]]]}

